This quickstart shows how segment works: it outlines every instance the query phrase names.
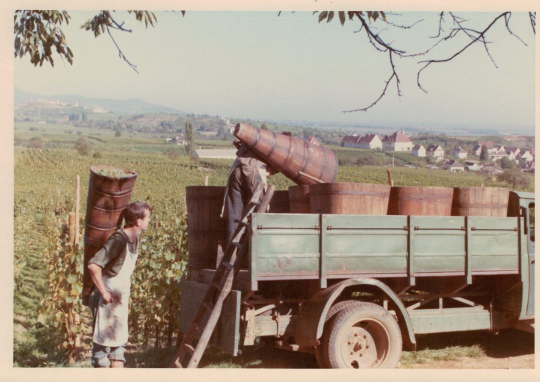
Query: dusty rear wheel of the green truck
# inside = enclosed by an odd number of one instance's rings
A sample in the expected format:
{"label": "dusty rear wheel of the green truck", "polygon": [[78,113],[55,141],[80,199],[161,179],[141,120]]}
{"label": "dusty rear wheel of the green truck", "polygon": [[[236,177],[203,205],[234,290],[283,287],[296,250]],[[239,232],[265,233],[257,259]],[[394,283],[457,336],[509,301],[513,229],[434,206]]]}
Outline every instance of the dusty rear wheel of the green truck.
{"label": "dusty rear wheel of the green truck", "polygon": [[386,309],[356,303],[329,322],[322,355],[332,368],[393,368],[401,347],[400,328]]}

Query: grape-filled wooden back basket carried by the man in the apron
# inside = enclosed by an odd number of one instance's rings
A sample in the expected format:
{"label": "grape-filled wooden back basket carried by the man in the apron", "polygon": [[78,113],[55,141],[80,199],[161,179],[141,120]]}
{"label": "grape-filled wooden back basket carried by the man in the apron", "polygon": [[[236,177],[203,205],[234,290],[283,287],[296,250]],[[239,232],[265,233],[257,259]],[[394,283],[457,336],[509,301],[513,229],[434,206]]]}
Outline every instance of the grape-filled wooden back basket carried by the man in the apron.
{"label": "grape-filled wooden back basket carried by the man in the apron", "polygon": [[83,303],[87,304],[93,287],[88,262],[109,236],[122,227],[122,211],[130,203],[136,180],[137,174],[133,171],[111,166],[90,167],[84,228]]}

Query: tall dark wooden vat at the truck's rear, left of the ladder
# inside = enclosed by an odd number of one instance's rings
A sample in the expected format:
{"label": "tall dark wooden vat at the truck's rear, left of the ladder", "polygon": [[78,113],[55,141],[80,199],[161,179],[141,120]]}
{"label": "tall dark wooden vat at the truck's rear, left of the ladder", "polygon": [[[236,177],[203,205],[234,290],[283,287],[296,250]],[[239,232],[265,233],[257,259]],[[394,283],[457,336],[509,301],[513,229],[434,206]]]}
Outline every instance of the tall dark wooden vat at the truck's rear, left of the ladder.
{"label": "tall dark wooden vat at the truck's rear, left of the ladder", "polygon": [[225,221],[220,217],[225,187],[188,186],[187,249],[189,266],[215,269],[225,248]]}

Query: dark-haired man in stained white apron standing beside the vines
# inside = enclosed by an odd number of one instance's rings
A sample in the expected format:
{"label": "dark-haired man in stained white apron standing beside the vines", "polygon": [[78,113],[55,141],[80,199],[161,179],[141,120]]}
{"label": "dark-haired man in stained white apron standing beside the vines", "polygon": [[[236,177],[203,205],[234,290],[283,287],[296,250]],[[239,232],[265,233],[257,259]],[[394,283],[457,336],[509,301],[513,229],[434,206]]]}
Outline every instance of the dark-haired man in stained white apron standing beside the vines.
{"label": "dark-haired man in stained white apron standing beside the vines", "polygon": [[114,232],[88,262],[95,284],[89,296],[94,319],[93,367],[124,367],[131,274],[138,236],[150,223],[150,206],[131,203],[124,210],[124,219],[124,229]]}

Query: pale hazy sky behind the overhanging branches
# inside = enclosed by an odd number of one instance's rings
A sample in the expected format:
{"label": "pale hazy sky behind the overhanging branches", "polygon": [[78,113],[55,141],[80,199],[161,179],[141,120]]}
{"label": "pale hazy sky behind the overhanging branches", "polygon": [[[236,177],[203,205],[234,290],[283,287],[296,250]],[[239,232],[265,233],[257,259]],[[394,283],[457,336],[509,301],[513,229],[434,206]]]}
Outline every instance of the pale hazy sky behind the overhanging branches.
{"label": "pale hazy sky behind the overhanging branches", "polygon": [[[125,11],[118,21],[132,33],[115,31],[125,56],[118,57],[107,35],[95,38],[80,29],[96,11],[70,11],[63,26],[73,65],[55,56],[55,67],[35,68],[29,57],[15,59],[14,85],[43,95],[128,99],[170,106],[184,112],[269,121],[313,121],[358,125],[470,126],[528,129],[535,118],[535,35],[527,12],[514,12],[511,36],[501,19],[488,32],[489,51],[475,44],[453,61],[417,71],[426,58],[448,58],[468,37],[440,44],[429,56],[394,58],[402,96],[395,81],[386,96],[366,112],[392,74],[388,53],[376,51],[357,20],[341,26],[318,23],[306,11],[156,11],[155,28],[145,28]],[[395,12],[397,13],[397,11]],[[457,12],[467,25],[484,29],[500,12]],[[436,42],[437,12],[399,12],[374,30],[397,49],[421,52]],[[452,27],[446,14],[446,32]]]}

